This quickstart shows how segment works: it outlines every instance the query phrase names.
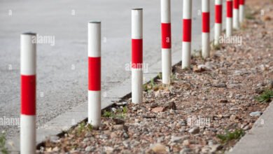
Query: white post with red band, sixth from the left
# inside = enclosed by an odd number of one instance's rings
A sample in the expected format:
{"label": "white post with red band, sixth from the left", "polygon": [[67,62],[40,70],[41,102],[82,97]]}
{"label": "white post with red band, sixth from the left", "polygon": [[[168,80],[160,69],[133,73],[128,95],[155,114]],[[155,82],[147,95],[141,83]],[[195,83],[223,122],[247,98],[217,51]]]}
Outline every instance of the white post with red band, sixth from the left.
{"label": "white post with red band, sixth from the left", "polygon": [[202,57],[209,57],[209,0],[202,0]]}

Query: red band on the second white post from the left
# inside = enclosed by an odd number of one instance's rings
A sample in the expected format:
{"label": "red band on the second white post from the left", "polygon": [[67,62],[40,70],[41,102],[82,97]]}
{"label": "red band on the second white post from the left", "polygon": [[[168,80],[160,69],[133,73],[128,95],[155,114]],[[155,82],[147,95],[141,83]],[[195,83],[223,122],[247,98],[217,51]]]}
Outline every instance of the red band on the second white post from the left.
{"label": "red band on the second white post from the left", "polygon": [[101,57],[88,57],[88,90],[101,90]]}

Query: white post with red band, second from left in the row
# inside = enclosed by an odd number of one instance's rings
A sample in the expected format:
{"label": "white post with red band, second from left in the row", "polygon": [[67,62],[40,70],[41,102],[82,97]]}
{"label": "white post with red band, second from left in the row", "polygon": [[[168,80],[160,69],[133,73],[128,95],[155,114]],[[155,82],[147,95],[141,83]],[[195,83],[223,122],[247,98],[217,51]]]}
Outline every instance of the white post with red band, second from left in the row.
{"label": "white post with red band, second from left in the row", "polygon": [[101,22],[88,23],[88,123],[101,125]]}

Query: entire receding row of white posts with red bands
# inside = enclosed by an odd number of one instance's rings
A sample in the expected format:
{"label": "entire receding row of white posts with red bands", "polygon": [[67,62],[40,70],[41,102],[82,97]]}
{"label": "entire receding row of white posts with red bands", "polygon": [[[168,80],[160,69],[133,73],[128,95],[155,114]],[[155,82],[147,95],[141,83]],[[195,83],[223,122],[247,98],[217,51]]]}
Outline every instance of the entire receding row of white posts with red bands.
{"label": "entire receding row of white posts with red bands", "polygon": [[[190,68],[192,0],[183,0],[182,69]],[[226,35],[244,21],[244,0],[226,1]],[[232,9],[233,8],[233,9]],[[209,57],[209,0],[202,0],[202,57]],[[214,45],[222,31],[223,0],[215,0]],[[233,18],[233,20],[232,20]],[[162,83],[172,76],[171,0],[161,0]],[[20,151],[36,153],[36,34],[21,34],[21,125]],[[88,23],[88,123],[101,124],[101,22]],[[143,9],[132,9],[132,103],[143,101]]]}

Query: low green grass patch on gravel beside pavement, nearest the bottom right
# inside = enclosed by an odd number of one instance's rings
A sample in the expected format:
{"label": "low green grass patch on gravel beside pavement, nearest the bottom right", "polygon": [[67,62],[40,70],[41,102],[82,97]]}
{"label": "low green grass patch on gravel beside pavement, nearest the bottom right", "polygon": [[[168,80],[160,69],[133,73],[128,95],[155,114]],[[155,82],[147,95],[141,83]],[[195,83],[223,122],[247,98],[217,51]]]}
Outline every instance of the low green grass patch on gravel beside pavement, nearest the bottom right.
{"label": "low green grass patch on gravel beside pavement, nearest the bottom right", "polygon": [[225,132],[225,134],[218,134],[217,137],[222,141],[223,144],[227,143],[228,141],[232,141],[235,139],[241,139],[241,137],[244,137],[244,130],[235,130],[235,132],[229,132],[228,130]]}

